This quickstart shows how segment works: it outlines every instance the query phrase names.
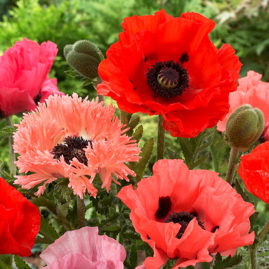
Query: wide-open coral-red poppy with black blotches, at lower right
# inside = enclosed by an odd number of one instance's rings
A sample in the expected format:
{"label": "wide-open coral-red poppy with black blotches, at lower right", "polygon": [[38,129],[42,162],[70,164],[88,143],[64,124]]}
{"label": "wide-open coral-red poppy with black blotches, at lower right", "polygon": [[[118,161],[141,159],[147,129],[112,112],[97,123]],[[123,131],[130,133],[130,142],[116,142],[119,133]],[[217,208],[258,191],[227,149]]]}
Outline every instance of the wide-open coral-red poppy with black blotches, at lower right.
{"label": "wide-open coral-red poppy with black blotches, at lower right", "polygon": [[212,260],[210,254],[234,255],[252,244],[249,217],[255,211],[218,174],[189,170],[179,159],[158,160],[153,176],[136,190],[123,187],[118,197],[131,209],[130,219],[141,239],[154,250],[145,267],[159,268],[168,258],[173,268]]}

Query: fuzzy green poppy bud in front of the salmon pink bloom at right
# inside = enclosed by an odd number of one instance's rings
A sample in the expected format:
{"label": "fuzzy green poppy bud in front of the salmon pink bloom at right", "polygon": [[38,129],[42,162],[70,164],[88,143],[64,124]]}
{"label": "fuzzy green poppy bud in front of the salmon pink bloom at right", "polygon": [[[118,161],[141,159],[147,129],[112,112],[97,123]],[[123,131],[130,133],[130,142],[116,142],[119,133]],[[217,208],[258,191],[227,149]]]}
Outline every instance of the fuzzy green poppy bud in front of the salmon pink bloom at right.
{"label": "fuzzy green poppy bud in front of the salmon pink bloom at right", "polygon": [[239,106],[226,124],[225,140],[233,148],[249,150],[263,130],[263,115],[251,105]]}

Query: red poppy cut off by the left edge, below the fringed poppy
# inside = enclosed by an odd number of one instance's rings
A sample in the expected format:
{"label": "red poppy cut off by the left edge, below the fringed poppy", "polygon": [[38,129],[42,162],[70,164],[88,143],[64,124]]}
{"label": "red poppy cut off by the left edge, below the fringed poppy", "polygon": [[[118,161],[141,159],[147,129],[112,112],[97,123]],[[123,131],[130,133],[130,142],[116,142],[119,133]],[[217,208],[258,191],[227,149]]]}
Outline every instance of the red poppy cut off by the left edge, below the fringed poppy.
{"label": "red poppy cut off by the left edge, below the fringed poppy", "polygon": [[0,178],[0,254],[30,256],[40,227],[40,212]]}

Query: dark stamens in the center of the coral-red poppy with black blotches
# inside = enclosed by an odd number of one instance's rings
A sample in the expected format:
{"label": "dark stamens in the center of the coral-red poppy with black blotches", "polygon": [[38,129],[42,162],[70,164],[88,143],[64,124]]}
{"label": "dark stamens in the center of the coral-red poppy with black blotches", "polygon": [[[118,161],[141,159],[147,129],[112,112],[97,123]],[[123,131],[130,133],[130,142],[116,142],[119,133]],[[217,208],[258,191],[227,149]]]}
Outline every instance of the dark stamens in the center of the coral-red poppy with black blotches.
{"label": "dark stamens in the center of the coral-red poppy with black blotches", "polygon": [[182,235],[184,234],[188,224],[192,219],[196,218],[196,221],[198,222],[198,225],[205,230],[203,223],[199,220],[197,217],[196,212],[188,213],[185,211],[182,211],[180,213],[176,213],[173,211],[173,214],[170,214],[168,218],[165,220],[165,223],[173,222],[173,223],[179,223],[181,225],[180,230],[178,231],[176,238],[180,239]]}

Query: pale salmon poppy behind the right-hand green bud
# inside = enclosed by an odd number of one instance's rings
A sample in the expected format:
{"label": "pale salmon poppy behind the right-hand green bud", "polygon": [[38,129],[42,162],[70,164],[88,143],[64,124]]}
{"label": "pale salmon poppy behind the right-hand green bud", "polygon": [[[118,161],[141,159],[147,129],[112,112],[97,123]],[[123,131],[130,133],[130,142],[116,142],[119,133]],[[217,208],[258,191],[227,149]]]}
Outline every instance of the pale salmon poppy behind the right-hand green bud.
{"label": "pale salmon poppy behind the right-hand green bud", "polygon": [[250,104],[257,107],[264,117],[264,129],[260,140],[268,141],[269,127],[269,83],[261,81],[262,75],[254,71],[248,71],[247,76],[238,80],[238,88],[230,93],[230,111],[224,120],[218,123],[218,130],[224,132],[226,123],[232,112],[243,104]]}

